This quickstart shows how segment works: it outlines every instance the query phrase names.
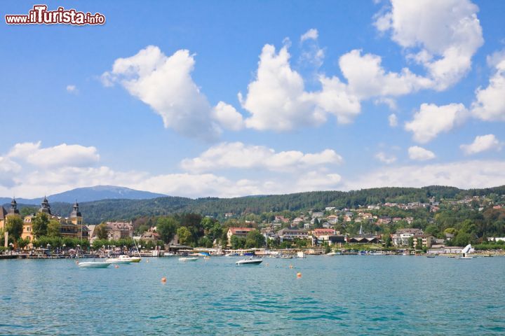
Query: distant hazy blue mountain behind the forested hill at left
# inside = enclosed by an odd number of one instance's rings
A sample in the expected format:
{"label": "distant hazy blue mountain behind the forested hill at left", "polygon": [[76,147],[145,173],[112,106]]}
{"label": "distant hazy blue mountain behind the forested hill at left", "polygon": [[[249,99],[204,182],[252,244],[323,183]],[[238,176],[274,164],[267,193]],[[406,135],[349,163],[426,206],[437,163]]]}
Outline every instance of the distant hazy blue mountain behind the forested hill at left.
{"label": "distant hazy blue mountain behind the forested hill at left", "polygon": [[[133,190],[130,188],[116,186],[95,186],[88,188],[76,188],[63,193],[48,195],[49,202],[93,202],[98,200],[149,200],[156,197],[166,197],[163,194],[149,193],[148,191]],[[19,204],[39,205],[43,197],[34,199],[19,198],[16,201]],[[11,203],[11,198],[0,198],[0,204]]]}

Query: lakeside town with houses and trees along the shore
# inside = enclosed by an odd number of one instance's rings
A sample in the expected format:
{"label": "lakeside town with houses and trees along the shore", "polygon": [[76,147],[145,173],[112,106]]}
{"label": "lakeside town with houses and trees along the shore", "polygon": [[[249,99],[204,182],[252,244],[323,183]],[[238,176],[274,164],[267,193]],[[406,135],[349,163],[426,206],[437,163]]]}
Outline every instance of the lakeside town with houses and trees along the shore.
{"label": "lakeside town with houses and trees along the shore", "polygon": [[[29,211],[32,211],[29,213]],[[457,223],[454,214],[471,217]],[[447,216],[451,214],[451,216]],[[473,218],[473,221],[472,219]],[[222,214],[211,216],[140,217],[132,221],[105,221],[86,225],[75,202],[68,216],[53,214],[46,197],[39,209],[18,209],[15,199],[8,209],[0,208],[1,251],[21,255],[48,256],[50,251],[65,255],[90,254],[107,250],[121,253],[137,241],[144,253],[187,253],[210,251],[241,253],[254,248],[267,251],[309,254],[323,253],[460,253],[466,244],[500,253],[505,247],[504,197],[473,196],[462,200],[436,200],[372,204],[357,209],[325,207],[309,211],[281,211],[270,214]],[[492,221],[495,235],[478,232],[476,224]],[[449,224],[447,224],[449,223]],[[480,235],[479,235],[480,234]],[[121,247],[122,246],[122,247]],[[36,251],[39,251],[36,253]]]}

